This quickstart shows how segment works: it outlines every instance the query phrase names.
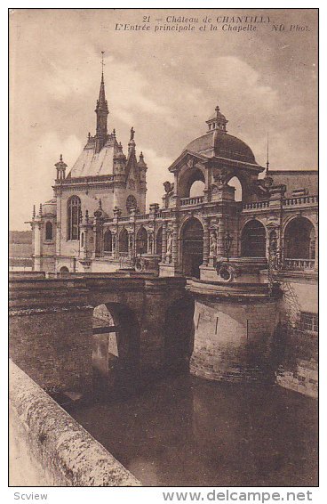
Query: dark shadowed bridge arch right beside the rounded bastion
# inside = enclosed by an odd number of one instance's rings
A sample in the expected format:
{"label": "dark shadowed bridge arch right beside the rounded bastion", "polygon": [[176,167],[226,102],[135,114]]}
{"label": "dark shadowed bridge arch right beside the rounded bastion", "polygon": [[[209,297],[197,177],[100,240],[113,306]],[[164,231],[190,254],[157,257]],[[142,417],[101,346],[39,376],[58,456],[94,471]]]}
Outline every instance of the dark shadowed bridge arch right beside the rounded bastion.
{"label": "dark shadowed bridge arch right beside the rounded bastion", "polygon": [[192,297],[183,297],[166,311],[164,319],[164,362],[167,368],[178,372],[188,370],[193,351],[195,303]]}

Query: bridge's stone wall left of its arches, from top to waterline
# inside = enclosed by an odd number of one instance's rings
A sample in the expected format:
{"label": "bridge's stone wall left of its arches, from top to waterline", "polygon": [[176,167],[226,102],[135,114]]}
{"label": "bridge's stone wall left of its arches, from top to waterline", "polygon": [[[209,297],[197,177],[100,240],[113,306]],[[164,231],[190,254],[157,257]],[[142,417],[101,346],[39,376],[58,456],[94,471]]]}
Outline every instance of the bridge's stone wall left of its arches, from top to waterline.
{"label": "bridge's stone wall left of its arches, from top to waterline", "polygon": [[11,281],[12,361],[46,390],[92,385],[92,306],[85,283],[19,277]]}

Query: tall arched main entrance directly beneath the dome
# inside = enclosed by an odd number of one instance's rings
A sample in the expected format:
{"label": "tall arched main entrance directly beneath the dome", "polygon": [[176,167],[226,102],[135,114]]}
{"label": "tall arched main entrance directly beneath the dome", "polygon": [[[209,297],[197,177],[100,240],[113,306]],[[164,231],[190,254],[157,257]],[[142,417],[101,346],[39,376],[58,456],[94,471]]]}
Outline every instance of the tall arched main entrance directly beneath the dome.
{"label": "tall arched main entrance directly beneath the dome", "polygon": [[200,278],[203,264],[203,226],[195,217],[190,218],[181,232],[183,273]]}

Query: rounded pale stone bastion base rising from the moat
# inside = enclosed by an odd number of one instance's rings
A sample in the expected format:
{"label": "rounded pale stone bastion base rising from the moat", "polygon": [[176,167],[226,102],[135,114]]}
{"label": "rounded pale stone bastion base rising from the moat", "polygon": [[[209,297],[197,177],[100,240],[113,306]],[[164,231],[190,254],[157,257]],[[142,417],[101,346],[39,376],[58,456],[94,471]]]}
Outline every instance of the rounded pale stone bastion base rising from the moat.
{"label": "rounded pale stone bastion base rising from the moat", "polygon": [[278,321],[274,299],[198,298],[194,321],[193,374],[227,381],[270,379],[270,345]]}

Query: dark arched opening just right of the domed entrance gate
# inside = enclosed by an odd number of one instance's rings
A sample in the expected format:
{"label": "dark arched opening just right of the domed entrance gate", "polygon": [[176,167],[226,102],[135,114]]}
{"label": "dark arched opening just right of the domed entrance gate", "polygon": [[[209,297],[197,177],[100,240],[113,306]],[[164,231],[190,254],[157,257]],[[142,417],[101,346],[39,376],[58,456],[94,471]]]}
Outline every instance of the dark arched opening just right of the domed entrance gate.
{"label": "dark arched opening just right of the domed entrance gate", "polygon": [[257,220],[249,221],[242,231],[241,255],[243,257],[266,257],[266,230]]}

